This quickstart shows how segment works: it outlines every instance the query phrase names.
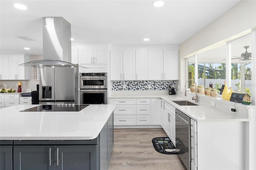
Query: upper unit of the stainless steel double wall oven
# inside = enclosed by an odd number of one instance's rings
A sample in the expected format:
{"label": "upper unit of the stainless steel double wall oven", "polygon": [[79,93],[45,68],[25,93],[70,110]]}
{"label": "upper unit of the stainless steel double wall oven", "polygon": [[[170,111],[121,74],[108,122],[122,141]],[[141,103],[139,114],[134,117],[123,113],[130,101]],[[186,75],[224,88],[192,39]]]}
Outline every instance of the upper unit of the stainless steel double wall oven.
{"label": "upper unit of the stainless steel double wall oven", "polygon": [[80,89],[107,89],[107,73],[80,73]]}

